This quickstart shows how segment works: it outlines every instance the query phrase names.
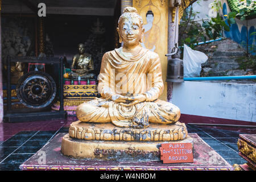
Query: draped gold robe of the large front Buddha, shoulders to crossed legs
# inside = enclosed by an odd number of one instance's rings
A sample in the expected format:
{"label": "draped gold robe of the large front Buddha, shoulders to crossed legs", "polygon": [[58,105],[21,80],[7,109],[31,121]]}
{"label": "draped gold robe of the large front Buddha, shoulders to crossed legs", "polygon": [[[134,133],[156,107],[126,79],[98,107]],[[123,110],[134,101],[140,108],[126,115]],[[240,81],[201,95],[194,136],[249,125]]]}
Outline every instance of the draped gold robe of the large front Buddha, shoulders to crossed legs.
{"label": "draped gold robe of the large front Buddha, shoulders to crossed legs", "polygon": [[[174,123],[180,118],[177,106],[158,100],[163,92],[162,69],[157,53],[142,48],[127,57],[122,48],[106,52],[98,77],[101,98],[77,107],[76,114],[84,122],[112,122],[119,127],[147,127],[148,122]],[[123,106],[110,100],[116,94],[144,94],[146,101]]]}

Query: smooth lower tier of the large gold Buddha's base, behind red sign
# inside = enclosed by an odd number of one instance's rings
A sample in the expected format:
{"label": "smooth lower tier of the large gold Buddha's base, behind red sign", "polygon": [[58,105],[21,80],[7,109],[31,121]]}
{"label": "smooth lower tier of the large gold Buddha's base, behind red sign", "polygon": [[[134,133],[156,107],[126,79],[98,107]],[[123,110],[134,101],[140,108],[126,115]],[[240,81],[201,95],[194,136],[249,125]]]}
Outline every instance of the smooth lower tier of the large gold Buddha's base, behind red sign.
{"label": "smooth lower tier of the large gold Buddha's base, behind red sign", "polygon": [[[66,134],[61,142],[61,152],[76,159],[160,161],[159,147],[162,143],[170,142],[81,140]],[[193,143],[193,139],[188,136],[171,143]]]}

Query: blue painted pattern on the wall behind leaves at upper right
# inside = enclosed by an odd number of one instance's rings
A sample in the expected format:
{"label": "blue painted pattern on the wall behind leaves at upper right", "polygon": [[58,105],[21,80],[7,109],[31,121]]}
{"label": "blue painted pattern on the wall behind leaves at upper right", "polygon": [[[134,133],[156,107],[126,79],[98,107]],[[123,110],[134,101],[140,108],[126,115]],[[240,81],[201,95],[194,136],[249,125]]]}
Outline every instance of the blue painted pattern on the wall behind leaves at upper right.
{"label": "blue painted pattern on the wall behind leaves at upper right", "polygon": [[[228,14],[227,5],[225,2],[222,5],[222,12],[224,15]],[[242,25],[241,32],[240,32],[240,30],[238,29],[237,23],[231,24],[230,31],[229,32],[224,31],[224,35],[226,36],[226,38],[230,38],[230,39],[234,40],[235,42],[239,43],[245,49],[247,49],[247,36],[249,36],[248,51],[250,54],[256,55],[255,35],[250,36],[250,34],[252,32],[256,31],[255,27],[254,26],[246,27],[246,26]],[[228,24],[227,21],[226,21],[226,24]]]}

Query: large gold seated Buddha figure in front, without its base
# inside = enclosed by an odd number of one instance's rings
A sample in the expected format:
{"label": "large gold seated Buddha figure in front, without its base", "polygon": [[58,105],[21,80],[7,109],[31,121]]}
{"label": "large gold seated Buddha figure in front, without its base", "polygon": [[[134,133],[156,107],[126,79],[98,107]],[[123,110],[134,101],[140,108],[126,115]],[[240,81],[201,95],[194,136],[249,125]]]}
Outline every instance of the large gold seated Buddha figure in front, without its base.
{"label": "large gold seated Buddha figure in front, without its base", "polygon": [[102,57],[98,76],[101,98],[79,105],[77,118],[137,129],[150,122],[177,122],[180,109],[158,99],[164,89],[160,58],[139,44],[143,42],[143,20],[134,7],[125,8],[117,31],[123,46]]}

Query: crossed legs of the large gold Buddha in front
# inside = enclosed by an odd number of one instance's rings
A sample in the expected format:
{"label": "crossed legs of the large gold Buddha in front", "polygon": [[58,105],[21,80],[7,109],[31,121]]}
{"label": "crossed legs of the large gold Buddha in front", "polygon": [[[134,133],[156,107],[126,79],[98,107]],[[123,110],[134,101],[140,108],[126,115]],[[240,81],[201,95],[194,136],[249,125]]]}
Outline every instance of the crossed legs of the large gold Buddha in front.
{"label": "crossed legs of the large gold Buddha in front", "polygon": [[[112,121],[112,117],[109,115],[109,107],[108,105],[113,105],[113,101],[105,101],[101,99],[92,100],[89,102],[85,102],[77,107],[76,115],[77,118],[82,122],[96,122],[96,123],[109,123],[113,122],[114,125],[118,125],[117,121]],[[143,115],[144,126],[147,126],[148,122],[152,123],[163,123],[163,124],[170,124],[175,123],[180,118],[180,109],[171,104],[170,102],[156,100],[155,102],[144,102],[142,109],[138,110],[134,117],[123,118],[122,114],[119,114],[118,106],[113,107],[115,109],[113,113],[117,113],[115,118],[118,118],[120,121],[130,120],[130,123],[134,122],[135,120],[139,121],[141,115]],[[145,117],[146,113],[146,117]],[[112,114],[113,115],[113,114]],[[125,125],[128,121],[124,122]],[[127,123],[128,124],[128,123]],[[139,123],[138,123],[139,124]],[[131,126],[126,125],[126,127]]]}

